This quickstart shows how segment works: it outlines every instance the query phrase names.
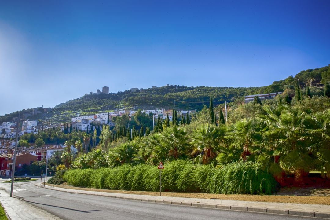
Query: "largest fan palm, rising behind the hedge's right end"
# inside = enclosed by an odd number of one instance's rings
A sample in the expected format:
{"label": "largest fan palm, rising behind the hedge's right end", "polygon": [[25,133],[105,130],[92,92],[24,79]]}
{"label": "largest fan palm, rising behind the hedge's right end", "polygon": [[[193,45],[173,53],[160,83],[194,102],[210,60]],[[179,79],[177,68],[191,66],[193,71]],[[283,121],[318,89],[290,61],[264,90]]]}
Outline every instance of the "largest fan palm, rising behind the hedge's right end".
{"label": "largest fan palm, rising behind the hedge's right end", "polygon": [[268,126],[265,135],[276,140],[274,156],[285,172],[294,172],[296,182],[301,182],[303,176],[311,168],[313,162],[309,155],[311,149],[310,126],[306,120],[308,112],[302,107],[280,105],[275,110],[264,107],[267,115],[260,116]]}

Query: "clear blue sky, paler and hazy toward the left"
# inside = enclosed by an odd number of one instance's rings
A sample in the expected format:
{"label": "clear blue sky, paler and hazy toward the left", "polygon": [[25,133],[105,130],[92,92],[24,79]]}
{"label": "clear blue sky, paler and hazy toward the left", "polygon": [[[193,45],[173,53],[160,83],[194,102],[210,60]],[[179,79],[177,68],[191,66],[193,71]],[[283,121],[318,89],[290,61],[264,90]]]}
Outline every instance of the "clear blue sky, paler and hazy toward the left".
{"label": "clear blue sky, paler and hazy toward the left", "polygon": [[330,1],[0,1],[0,115],[102,86],[269,85],[330,63]]}

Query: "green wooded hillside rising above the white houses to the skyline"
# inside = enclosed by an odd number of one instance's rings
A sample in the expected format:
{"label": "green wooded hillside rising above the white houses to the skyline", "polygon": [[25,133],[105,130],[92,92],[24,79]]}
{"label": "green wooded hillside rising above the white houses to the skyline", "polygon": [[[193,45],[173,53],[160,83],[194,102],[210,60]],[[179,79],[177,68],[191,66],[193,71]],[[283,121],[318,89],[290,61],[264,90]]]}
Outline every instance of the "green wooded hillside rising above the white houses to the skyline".
{"label": "green wooded hillside rising above the white houses to the skyline", "polygon": [[[330,65],[329,65],[330,66]],[[271,93],[283,91],[285,85],[295,85],[300,87],[319,86],[325,81],[330,80],[329,66],[317,69],[301,71],[294,77],[289,76],[284,80],[274,81],[271,85],[263,87],[187,87],[181,85],[169,85],[159,88],[143,89],[132,92],[130,90],[119,91],[110,94],[91,94],[84,95],[81,98],[73,99],[65,103],[56,105],[51,112],[40,113],[30,116],[30,120],[43,120],[46,124],[57,124],[68,122],[71,117],[99,112],[130,109],[133,107],[139,109],[150,108],[175,108],[200,110],[210,101],[210,94],[213,96],[214,104],[221,104],[224,101],[242,102],[245,95]],[[20,113],[31,111],[21,110]],[[0,123],[9,121],[17,115],[18,111],[0,116]]]}

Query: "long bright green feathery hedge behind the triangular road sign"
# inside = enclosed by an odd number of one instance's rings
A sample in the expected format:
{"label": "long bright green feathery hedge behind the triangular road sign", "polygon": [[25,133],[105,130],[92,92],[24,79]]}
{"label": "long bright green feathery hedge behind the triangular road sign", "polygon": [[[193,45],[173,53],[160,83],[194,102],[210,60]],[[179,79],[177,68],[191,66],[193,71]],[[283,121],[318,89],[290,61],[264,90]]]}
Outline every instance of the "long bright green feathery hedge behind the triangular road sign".
{"label": "long bright green feathery hedge behind the triangular road sign", "polygon": [[[256,163],[237,162],[222,168],[195,165],[189,161],[168,162],[162,170],[163,191],[217,194],[272,194],[277,182]],[[158,191],[159,170],[150,165],[76,169],[64,173],[70,185],[114,190]]]}

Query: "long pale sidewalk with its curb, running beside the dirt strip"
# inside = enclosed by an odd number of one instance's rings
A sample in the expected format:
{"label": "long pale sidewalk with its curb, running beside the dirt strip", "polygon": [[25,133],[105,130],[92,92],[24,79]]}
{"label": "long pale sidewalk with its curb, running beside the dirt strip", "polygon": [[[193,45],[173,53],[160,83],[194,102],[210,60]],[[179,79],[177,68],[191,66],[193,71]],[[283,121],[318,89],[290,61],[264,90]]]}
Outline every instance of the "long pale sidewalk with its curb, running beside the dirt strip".
{"label": "long pale sidewalk with its curb, running beside the dirt strip", "polygon": [[[40,183],[35,185],[40,187]],[[197,199],[197,198],[180,198],[180,197],[168,197],[168,196],[149,196],[149,195],[64,189],[59,187],[47,186],[47,185],[45,188],[57,190],[57,191],[70,192],[70,193],[104,196],[104,197],[111,197],[117,199],[136,200],[136,201],[150,202],[150,203],[188,205],[188,206],[198,206],[198,207],[206,207],[206,208],[220,208],[220,209],[231,209],[231,210],[240,210],[240,211],[300,215],[300,216],[310,216],[310,217],[330,219],[330,205],[266,203],[266,202],[248,202],[248,201],[233,201],[233,200],[220,200],[220,199]]]}

